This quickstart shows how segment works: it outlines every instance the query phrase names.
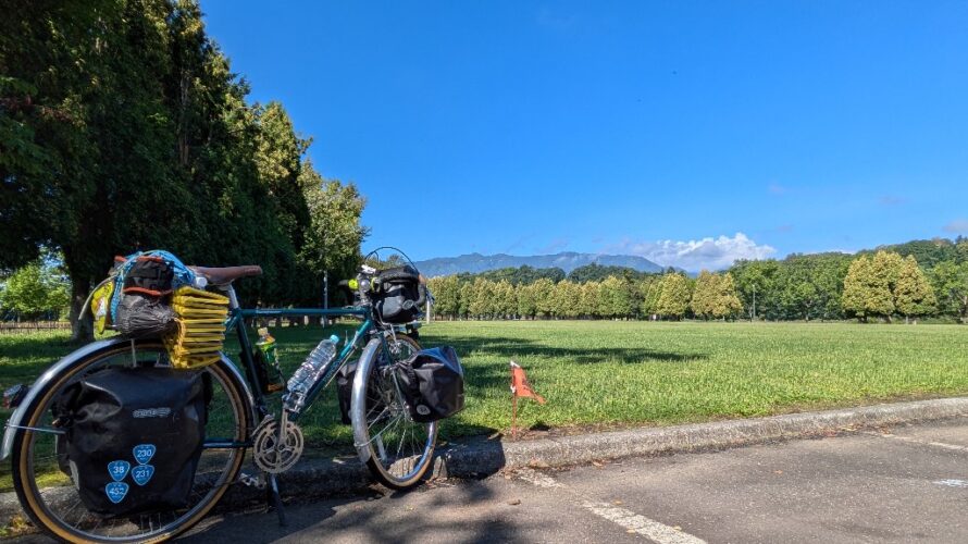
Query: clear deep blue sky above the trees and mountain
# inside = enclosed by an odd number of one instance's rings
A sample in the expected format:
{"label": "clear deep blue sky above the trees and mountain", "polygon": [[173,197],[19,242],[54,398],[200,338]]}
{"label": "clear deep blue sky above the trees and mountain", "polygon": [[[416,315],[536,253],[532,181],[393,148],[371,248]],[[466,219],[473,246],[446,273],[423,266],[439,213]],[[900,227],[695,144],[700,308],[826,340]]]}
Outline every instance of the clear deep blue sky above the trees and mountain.
{"label": "clear deep blue sky above the trees and mountain", "polygon": [[968,235],[968,2],[201,0],[364,248],[734,258]]}

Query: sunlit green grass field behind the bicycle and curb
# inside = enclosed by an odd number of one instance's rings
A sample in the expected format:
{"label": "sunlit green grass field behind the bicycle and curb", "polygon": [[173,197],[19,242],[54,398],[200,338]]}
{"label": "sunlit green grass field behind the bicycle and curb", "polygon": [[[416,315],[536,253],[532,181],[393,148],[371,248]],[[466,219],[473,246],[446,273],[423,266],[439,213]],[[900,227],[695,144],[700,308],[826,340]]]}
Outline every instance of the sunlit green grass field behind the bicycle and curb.
{"label": "sunlit green grass field behind the bicycle and curb", "polygon": [[[303,327],[273,335],[289,372],[323,336]],[[444,424],[445,440],[508,430],[510,359],[548,399],[524,401],[523,428],[666,425],[968,394],[968,327],[958,325],[436,322],[421,336],[424,346],[455,346],[466,367],[467,409]],[[33,381],[72,349],[64,341],[0,336],[0,385]],[[301,423],[310,444],[349,452],[335,393]],[[0,468],[0,487],[8,473]]]}

